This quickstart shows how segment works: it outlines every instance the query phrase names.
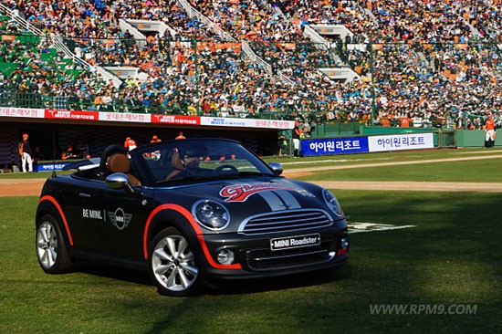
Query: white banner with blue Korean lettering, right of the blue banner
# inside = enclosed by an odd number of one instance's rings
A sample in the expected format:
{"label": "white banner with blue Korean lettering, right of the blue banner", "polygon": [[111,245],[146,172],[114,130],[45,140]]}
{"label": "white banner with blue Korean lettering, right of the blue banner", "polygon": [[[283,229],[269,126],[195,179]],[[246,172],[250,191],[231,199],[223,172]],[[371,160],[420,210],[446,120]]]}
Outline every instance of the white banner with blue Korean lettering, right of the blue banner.
{"label": "white banner with blue Korean lettering, right of the blue banner", "polygon": [[368,147],[369,151],[434,149],[434,135],[430,132],[370,136]]}

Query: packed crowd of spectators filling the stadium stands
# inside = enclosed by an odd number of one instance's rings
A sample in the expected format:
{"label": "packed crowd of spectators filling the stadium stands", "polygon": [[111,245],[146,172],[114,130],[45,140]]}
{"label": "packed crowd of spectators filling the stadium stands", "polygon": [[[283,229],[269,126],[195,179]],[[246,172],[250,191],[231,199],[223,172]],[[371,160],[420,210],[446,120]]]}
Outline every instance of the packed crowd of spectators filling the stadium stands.
{"label": "packed crowd of spectators filling the stadium stands", "polygon": [[[130,66],[147,74],[144,81],[127,78],[116,87],[81,64],[60,67],[64,55],[42,60],[45,39],[36,49],[3,41],[0,61],[25,65],[3,75],[0,87],[39,94],[46,108],[363,122],[375,110],[372,121],[383,126],[403,117],[441,126],[451,117],[462,128],[476,128],[476,117],[502,112],[499,0],[190,2],[248,42],[272,72],[174,0],[4,3],[45,34],[64,37],[91,65]],[[162,21],[172,29],[149,35],[140,47],[120,29],[120,18]],[[302,34],[313,23],[345,25],[353,37],[319,50]],[[12,22],[3,27],[3,34],[22,31]],[[359,77],[343,83],[316,69],[341,64]]]}

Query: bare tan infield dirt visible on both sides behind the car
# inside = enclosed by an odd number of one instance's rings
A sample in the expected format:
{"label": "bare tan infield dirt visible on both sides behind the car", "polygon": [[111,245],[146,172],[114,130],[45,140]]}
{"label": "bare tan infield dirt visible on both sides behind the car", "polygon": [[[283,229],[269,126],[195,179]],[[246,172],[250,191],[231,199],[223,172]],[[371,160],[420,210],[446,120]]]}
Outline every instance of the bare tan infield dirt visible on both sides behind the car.
{"label": "bare tan infield dirt visible on both sides behind the car", "polygon": [[[368,168],[374,166],[389,166],[431,162],[453,162],[478,159],[500,159],[502,154],[489,154],[483,156],[434,159],[410,162],[378,162],[357,165],[322,166],[308,168],[286,169],[283,173],[288,178],[309,176],[316,171]],[[45,179],[2,179],[0,178],[0,197],[3,196],[37,196],[40,194]],[[427,191],[427,192],[486,192],[502,193],[502,183],[442,183],[442,182],[367,182],[367,181],[319,181],[313,182],[329,189],[364,189],[364,190],[391,190],[391,191]]]}

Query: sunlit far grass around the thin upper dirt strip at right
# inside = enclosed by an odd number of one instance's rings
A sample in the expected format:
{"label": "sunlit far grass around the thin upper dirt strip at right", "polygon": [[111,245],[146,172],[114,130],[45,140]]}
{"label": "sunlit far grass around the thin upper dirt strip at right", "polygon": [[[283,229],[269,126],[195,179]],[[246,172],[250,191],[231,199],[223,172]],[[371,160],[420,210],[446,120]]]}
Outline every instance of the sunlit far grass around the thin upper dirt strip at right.
{"label": "sunlit far grass around the thin upper dirt strip at right", "polygon": [[[471,161],[425,162],[430,160],[476,158],[498,155],[498,158]],[[309,167],[350,166],[353,164],[424,162],[387,166],[369,166],[354,169],[316,171],[298,180],[309,181],[427,181],[427,182],[472,182],[502,183],[502,150],[434,150],[403,151],[389,153],[351,154],[331,157],[306,157],[301,159],[271,158],[266,162],[277,161],[285,171]]]}

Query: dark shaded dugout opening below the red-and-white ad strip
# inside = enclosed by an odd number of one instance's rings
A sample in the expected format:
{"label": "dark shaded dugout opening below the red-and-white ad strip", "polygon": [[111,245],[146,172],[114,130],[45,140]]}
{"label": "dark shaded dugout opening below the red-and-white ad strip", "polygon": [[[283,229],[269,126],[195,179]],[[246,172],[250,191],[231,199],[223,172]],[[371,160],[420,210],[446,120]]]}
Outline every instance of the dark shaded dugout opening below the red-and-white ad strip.
{"label": "dark shaded dugout opening below the red-and-white ad strip", "polygon": [[91,156],[99,154],[110,144],[123,145],[126,137],[138,145],[151,141],[153,135],[161,140],[174,139],[183,130],[188,137],[218,137],[240,141],[258,155],[277,152],[277,129],[204,127],[201,125],[165,125],[127,122],[83,122],[81,120],[37,120],[0,118],[0,169],[20,166],[17,144],[23,133],[29,134],[32,151],[38,146],[45,160],[60,160],[68,144]]}

